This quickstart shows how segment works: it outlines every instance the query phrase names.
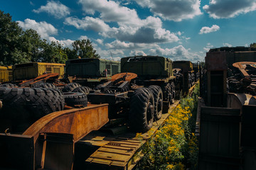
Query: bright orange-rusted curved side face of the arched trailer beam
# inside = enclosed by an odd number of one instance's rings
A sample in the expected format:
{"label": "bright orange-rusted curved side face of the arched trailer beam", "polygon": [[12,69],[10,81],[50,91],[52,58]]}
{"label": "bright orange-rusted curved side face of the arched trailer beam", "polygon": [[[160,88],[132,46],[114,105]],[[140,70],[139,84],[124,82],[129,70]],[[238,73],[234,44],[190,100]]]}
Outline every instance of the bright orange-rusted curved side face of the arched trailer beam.
{"label": "bright orange-rusted curved side face of the arched trailer beam", "polygon": [[74,142],[85,137],[92,130],[98,130],[108,122],[108,105],[92,105],[73,108],[44,116],[33,123],[23,135],[32,135],[34,142],[44,132],[68,133],[74,135]]}

